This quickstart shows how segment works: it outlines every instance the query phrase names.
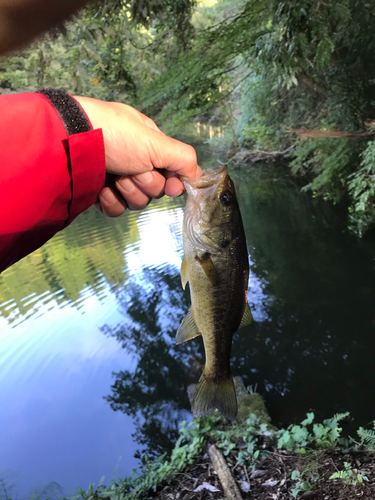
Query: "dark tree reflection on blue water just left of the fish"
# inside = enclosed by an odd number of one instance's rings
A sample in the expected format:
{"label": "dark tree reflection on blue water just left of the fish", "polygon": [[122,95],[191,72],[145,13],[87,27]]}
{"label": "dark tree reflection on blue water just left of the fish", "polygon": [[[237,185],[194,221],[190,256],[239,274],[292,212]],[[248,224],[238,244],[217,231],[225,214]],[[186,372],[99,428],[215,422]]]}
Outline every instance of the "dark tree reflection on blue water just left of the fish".
{"label": "dark tree reflection on blue water just left of the fish", "polygon": [[115,411],[135,419],[136,441],[149,454],[172,447],[178,423],[189,418],[186,386],[196,380],[196,361],[202,362],[199,343],[178,346],[174,337],[188,308],[177,269],[163,273],[145,270],[135,283],[118,292],[125,321],[103,333],[115,337],[133,353],[135,370],[114,373],[112,392],[105,399]]}

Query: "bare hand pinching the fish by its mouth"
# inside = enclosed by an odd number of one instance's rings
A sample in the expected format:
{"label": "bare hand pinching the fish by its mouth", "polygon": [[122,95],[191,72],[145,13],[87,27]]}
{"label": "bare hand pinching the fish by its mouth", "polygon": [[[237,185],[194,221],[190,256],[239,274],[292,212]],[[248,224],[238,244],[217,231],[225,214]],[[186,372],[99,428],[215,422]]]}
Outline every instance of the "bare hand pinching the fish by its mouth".
{"label": "bare hand pinching the fish by its mouth", "polygon": [[151,118],[131,106],[90,97],[75,99],[94,128],[103,130],[106,170],[113,186],[104,187],[95,205],[109,217],[140,210],[152,198],[179,196],[178,175],[198,177],[202,170],[192,146],[165,135]]}

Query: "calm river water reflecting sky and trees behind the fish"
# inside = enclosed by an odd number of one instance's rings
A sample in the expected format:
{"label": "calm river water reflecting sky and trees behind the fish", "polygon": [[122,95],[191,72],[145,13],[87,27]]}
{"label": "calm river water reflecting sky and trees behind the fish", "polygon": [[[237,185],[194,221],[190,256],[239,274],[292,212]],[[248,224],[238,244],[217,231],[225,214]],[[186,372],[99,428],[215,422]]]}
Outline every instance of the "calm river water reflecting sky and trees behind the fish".
{"label": "calm river water reflecting sky and trees behind the fish", "polygon": [[[197,148],[202,166],[217,164]],[[234,337],[234,374],[275,424],[307,411],[350,411],[353,429],[375,420],[374,239],[350,235],[341,210],[277,164],[231,175],[256,320]],[[174,344],[189,307],[184,205],[164,198],[117,219],[90,209],[0,275],[0,497],[1,485],[14,498],[54,482],[51,498],[108,483],[116,467],[128,475],[191,419],[186,387],[204,351],[199,338]]]}

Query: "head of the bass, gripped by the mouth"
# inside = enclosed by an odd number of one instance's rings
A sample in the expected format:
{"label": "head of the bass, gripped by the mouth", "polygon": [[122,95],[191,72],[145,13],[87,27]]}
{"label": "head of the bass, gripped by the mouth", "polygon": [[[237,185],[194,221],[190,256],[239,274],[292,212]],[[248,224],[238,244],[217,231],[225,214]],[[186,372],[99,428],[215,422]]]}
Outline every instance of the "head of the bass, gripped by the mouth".
{"label": "head of the bass, gripped by the mouth", "polygon": [[188,194],[184,230],[202,251],[217,251],[232,235],[240,216],[236,192],[227,165],[204,170],[201,177],[181,177]]}

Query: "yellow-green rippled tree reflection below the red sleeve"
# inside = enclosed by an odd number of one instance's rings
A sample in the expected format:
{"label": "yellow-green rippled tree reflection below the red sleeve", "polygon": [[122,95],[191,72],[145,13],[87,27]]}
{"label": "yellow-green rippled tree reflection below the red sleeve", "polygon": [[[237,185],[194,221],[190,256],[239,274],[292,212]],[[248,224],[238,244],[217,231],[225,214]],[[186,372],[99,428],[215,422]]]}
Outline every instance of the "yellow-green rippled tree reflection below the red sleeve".
{"label": "yellow-green rippled tree reflection below the red sleeve", "polygon": [[100,297],[103,280],[111,286],[125,283],[123,251],[139,238],[137,216],[107,221],[94,209],[81,214],[43,247],[0,275],[0,315],[11,315],[12,311],[2,306],[9,301],[18,310],[9,322],[30,314],[33,303],[24,299],[32,294],[48,292],[45,300],[74,306],[87,287]]}

